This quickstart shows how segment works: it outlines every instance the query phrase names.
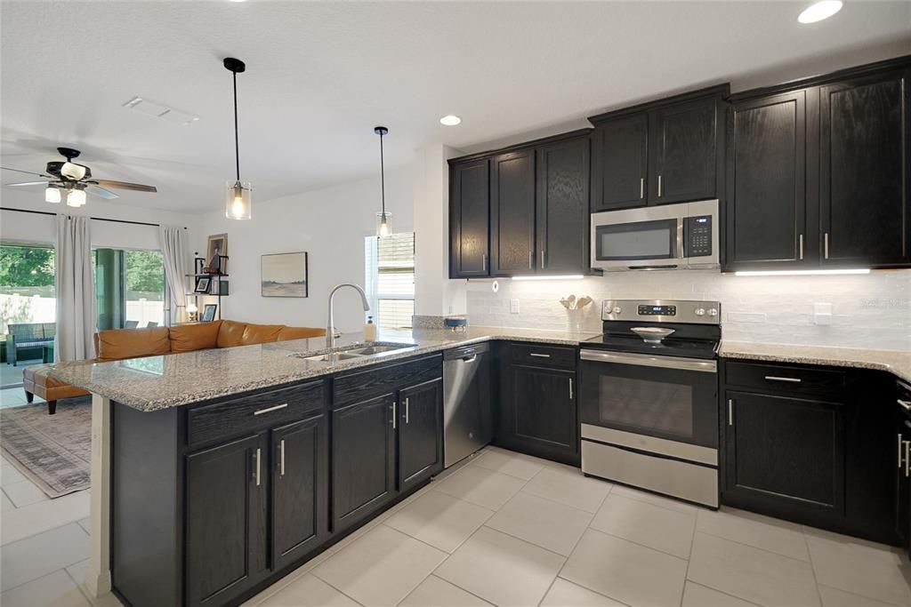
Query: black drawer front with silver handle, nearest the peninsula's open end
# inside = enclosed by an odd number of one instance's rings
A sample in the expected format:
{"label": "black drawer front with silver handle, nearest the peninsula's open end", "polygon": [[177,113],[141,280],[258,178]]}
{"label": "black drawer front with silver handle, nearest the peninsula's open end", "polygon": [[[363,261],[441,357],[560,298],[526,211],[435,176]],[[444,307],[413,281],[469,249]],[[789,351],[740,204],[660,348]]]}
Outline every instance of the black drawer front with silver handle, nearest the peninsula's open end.
{"label": "black drawer front with silver handle, nearest the peninsula's open end", "polygon": [[312,381],[197,407],[187,413],[187,442],[192,447],[301,420],[322,410],[327,396],[326,382]]}

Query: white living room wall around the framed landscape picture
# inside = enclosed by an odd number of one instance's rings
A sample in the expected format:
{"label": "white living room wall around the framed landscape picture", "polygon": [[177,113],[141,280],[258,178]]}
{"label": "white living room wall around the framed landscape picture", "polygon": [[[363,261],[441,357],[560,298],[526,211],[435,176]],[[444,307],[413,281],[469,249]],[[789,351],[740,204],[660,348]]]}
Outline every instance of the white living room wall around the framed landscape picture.
{"label": "white living room wall around the framed landscape picture", "polygon": [[[386,209],[393,213],[394,232],[412,231],[412,196],[410,169],[386,172]],[[325,327],[330,289],[340,282],[363,287],[363,238],[375,234],[378,210],[379,175],[269,201],[257,201],[254,191],[250,221],[226,219],[224,211],[206,214],[193,250],[204,256],[208,235],[228,234],[230,296],[221,300],[221,318]],[[309,254],[309,297],[261,297],[261,255],[294,251]],[[336,327],[361,330],[363,319],[357,294],[339,291]]]}

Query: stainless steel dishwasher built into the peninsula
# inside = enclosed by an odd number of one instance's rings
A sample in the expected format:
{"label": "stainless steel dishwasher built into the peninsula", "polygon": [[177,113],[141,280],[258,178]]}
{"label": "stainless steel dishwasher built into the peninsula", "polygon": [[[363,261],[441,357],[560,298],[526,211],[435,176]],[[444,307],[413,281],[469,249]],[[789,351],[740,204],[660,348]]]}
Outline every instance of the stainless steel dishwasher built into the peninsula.
{"label": "stainless steel dishwasher built into the peninsula", "polygon": [[493,437],[490,345],[443,353],[443,462],[449,468]]}

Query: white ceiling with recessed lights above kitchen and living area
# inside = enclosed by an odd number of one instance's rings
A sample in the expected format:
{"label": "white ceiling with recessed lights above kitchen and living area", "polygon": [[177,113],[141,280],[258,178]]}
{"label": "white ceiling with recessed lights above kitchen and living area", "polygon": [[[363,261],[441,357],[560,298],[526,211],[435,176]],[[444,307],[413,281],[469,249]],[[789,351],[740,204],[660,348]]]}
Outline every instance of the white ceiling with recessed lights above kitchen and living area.
{"label": "white ceiling with recessed lights above kitchen and living area", "polygon": [[[911,53],[911,2],[847,0],[800,25],[807,4],[4,0],[2,160],[42,170],[77,147],[96,177],[159,187],[119,203],[217,209],[233,173],[225,56],[247,62],[241,177],[262,201],[375,175],[376,124],[400,167],[428,142],[476,149],[696,86]],[[132,96],[200,121],[121,107]],[[461,126],[439,125],[450,113]]]}

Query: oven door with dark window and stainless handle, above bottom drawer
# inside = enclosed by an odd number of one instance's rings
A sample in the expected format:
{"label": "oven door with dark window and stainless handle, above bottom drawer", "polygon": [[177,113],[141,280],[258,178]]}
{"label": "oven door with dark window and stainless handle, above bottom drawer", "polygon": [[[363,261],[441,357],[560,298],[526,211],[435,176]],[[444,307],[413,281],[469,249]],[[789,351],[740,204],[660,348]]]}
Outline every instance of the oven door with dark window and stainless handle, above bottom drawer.
{"label": "oven door with dark window and stainless handle, above bottom drawer", "polygon": [[714,360],[589,349],[580,359],[583,424],[718,448]]}

